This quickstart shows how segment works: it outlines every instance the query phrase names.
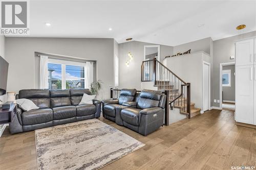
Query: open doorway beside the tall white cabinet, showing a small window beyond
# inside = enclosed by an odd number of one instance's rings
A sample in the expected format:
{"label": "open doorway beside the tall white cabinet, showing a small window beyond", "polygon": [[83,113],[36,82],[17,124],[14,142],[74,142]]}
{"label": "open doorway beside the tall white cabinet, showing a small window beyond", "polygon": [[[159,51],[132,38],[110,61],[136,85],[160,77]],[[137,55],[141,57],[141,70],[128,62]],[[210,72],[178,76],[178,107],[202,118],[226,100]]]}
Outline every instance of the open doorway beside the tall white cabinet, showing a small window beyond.
{"label": "open doorway beside the tall white cabinet, showing a small window beyond", "polygon": [[220,108],[235,111],[235,65],[234,62],[220,64]]}

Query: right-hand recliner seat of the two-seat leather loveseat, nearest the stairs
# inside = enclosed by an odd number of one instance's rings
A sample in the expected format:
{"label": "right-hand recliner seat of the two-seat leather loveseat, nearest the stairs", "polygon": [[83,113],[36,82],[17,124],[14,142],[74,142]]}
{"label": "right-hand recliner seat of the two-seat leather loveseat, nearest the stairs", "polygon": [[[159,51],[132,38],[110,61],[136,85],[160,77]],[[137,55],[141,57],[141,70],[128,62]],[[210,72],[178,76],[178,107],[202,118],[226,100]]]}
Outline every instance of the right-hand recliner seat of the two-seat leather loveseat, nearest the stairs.
{"label": "right-hand recliner seat of the two-seat leather loveseat, nearest the stairs", "polygon": [[136,108],[121,111],[123,126],[144,136],[163,125],[166,95],[161,91],[142,90]]}

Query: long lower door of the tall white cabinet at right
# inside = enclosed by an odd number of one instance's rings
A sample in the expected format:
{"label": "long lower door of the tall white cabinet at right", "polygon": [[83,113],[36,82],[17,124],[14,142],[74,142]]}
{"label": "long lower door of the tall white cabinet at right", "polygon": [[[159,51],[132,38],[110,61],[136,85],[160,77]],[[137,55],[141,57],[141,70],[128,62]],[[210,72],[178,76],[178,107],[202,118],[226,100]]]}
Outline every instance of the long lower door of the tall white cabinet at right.
{"label": "long lower door of the tall white cabinet at right", "polygon": [[236,121],[253,124],[253,65],[236,66]]}

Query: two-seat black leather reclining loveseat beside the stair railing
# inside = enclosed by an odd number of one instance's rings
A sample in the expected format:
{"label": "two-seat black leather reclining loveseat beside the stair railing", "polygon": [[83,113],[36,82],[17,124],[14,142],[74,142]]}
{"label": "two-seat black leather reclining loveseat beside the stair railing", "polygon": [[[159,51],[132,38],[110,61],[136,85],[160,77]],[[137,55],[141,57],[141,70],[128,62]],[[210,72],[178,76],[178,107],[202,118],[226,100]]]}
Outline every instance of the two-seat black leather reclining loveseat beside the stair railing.
{"label": "two-seat black leather reclining loveseat beside the stair railing", "polygon": [[144,136],[163,125],[166,95],[160,91],[122,89],[119,100],[103,101],[103,116]]}

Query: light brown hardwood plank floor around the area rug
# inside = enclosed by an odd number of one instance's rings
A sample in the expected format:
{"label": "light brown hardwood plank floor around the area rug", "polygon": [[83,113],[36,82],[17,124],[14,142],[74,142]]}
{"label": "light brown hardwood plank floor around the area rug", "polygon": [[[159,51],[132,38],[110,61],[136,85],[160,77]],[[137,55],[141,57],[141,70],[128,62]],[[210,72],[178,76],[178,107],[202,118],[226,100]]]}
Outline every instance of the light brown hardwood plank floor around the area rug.
{"label": "light brown hardwood plank floor around the area rug", "polygon": [[[256,129],[236,126],[234,112],[210,110],[142,136],[99,118],[145,143],[102,169],[231,169],[256,166]],[[34,132],[0,138],[0,169],[36,169]]]}

